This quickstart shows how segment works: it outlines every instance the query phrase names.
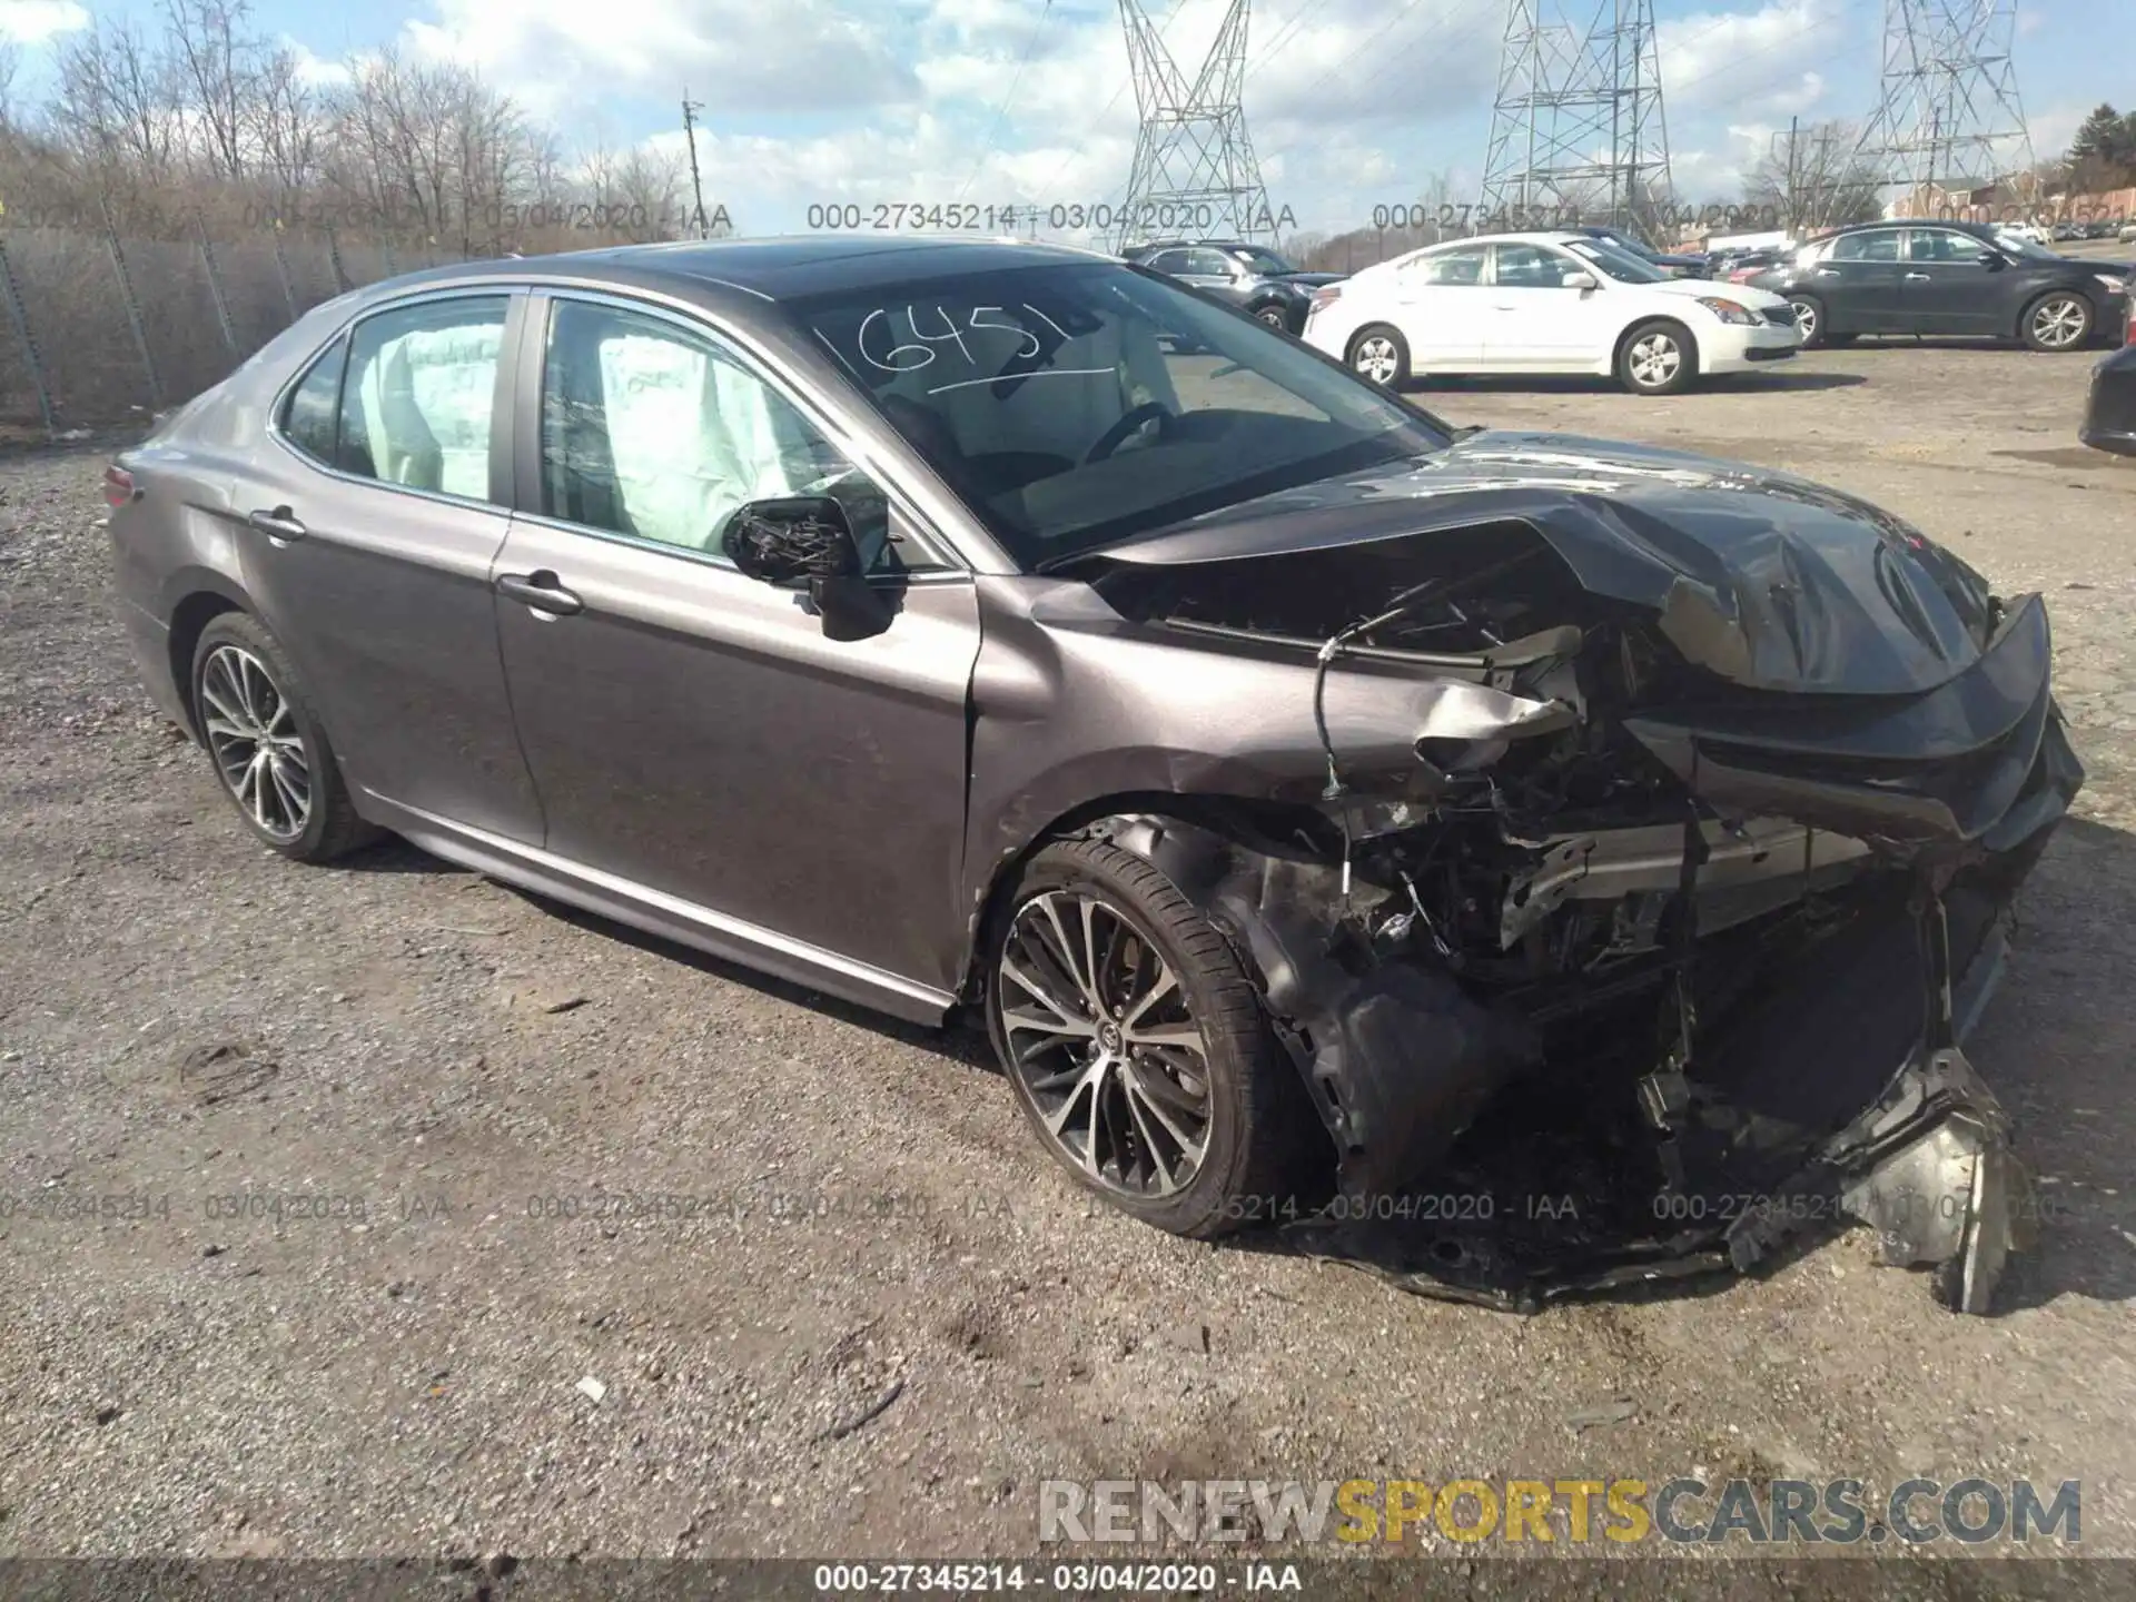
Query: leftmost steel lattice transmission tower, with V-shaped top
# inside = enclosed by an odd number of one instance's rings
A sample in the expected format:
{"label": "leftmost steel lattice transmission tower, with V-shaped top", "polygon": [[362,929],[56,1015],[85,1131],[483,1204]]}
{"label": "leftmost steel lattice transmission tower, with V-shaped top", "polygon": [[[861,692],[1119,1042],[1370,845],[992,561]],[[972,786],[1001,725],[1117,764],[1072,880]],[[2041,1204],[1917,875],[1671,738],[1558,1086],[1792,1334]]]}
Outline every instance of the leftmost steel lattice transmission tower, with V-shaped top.
{"label": "leftmost steel lattice transmission tower, with V-shaped top", "polygon": [[1224,26],[1190,88],[1143,11],[1143,0],[1119,0],[1119,19],[1128,26],[1134,107],[1143,126],[1134,137],[1128,199],[1113,226],[1115,248],[1151,231],[1275,241],[1269,190],[1260,182],[1241,103],[1250,9],[1250,0],[1230,0]]}

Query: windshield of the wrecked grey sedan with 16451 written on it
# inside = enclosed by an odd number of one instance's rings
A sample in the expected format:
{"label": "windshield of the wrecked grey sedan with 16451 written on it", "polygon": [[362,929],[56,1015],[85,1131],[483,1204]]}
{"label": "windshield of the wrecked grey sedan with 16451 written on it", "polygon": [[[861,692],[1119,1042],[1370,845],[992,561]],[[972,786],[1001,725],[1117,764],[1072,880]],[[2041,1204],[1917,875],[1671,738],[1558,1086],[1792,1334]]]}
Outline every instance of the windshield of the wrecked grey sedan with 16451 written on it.
{"label": "windshield of the wrecked grey sedan with 16451 written on it", "polygon": [[1446,444],[1288,335],[1113,263],[792,303],[1025,570]]}

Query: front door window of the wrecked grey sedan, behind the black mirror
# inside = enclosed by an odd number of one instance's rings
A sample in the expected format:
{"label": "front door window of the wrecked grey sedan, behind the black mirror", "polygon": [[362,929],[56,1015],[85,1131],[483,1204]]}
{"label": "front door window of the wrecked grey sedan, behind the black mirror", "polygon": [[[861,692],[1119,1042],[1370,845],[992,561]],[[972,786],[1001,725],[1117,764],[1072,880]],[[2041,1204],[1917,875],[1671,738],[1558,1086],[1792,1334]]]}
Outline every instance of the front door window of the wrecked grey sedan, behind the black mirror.
{"label": "front door window of the wrecked grey sedan, behind the black mirror", "polygon": [[540,408],[543,513],[688,551],[743,502],[831,496],[869,570],[897,566],[882,491],[711,337],[555,301]]}

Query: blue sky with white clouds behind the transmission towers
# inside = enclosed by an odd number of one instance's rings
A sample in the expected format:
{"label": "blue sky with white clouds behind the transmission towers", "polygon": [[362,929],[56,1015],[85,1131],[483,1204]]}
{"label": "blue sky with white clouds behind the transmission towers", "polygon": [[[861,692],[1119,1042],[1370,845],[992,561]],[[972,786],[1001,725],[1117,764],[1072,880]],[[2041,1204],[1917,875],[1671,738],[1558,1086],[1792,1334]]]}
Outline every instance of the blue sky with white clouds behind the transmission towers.
{"label": "blue sky with white clouds behind the transmission towers", "polygon": [[[1224,6],[1145,0],[1183,75]],[[21,90],[90,9],[152,17],[158,0],[0,0]],[[1875,100],[1882,0],[1655,0],[1655,15],[1685,201],[1737,199],[1790,115]],[[1111,203],[1134,147],[1115,0],[254,0],[254,21],[323,77],[387,43],[470,64],[568,141],[611,150],[679,147],[688,88],[707,201],[743,233],[799,229],[829,201]],[[1335,233],[1435,175],[1474,199],[1504,26],[1506,0],[1256,0],[1245,115],[1273,205]],[[2100,100],[2136,96],[2125,13],[2104,0],[2029,0],[2016,34],[2042,156]]]}

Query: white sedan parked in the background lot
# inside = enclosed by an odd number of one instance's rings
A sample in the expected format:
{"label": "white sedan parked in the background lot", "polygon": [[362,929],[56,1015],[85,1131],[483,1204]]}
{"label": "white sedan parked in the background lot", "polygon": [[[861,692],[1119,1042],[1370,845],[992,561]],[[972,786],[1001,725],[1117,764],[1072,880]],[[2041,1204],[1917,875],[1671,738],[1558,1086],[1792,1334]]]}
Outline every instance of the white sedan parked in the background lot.
{"label": "white sedan parked in the background lot", "polygon": [[1579,233],[1504,233],[1397,256],[1314,293],[1305,342],[1376,384],[1435,374],[1615,374],[1670,395],[1803,340],[1779,295],[1670,278]]}

